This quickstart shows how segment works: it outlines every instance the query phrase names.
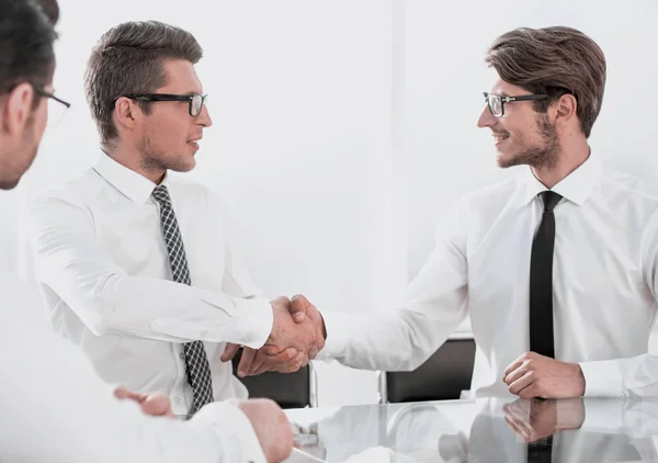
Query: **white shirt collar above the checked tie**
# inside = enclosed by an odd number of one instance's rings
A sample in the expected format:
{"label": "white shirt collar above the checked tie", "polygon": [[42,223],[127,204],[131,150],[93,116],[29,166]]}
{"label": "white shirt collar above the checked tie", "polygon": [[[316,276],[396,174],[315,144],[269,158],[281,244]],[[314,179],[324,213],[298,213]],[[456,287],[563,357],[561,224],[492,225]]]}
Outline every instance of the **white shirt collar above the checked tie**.
{"label": "white shirt collar above the checked tie", "polygon": [[[157,187],[146,177],[128,169],[115,161],[111,156],[101,153],[93,165],[93,169],[112,184],[120,193],[124,194],[137,204],[144,204],[150,197],[154,189]],[[160,184],[168,185],[168,176]]]}

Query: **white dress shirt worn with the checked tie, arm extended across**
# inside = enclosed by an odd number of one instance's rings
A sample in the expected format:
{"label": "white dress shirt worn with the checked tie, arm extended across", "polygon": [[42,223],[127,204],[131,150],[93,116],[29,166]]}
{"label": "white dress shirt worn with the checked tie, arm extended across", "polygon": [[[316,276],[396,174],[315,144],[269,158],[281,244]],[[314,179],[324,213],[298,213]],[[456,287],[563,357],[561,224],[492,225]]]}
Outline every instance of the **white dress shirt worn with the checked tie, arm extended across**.
{"label": "white dress shirt worn with the checked tie, arm extended across", "polygon": [[55,330],[80,346],[100,376],[164,391],[174,413],[192,406],[183,342],[205,341],[216,400],[247,389],[219,361],[225,342],[261,347],[272,308],[231,245],[206,188],[166,179],[192,286],[171,281],[156,184],[102,154],[78,179],[31,207],[36,279]]}

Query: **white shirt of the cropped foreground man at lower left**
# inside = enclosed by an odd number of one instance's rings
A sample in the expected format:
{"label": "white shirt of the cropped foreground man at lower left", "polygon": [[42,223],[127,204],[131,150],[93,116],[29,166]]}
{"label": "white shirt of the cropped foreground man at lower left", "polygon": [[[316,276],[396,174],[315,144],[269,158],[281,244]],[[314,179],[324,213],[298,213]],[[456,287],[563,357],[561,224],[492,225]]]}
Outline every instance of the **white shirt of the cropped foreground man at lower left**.
{"label": "white shirt of the cropped foreground man at lower left", "polygon": [[53,334],[39,302],[0,262],[0,461],[264,462],[249,419],[227,403],[190,421],[118,400],[89,359]]}

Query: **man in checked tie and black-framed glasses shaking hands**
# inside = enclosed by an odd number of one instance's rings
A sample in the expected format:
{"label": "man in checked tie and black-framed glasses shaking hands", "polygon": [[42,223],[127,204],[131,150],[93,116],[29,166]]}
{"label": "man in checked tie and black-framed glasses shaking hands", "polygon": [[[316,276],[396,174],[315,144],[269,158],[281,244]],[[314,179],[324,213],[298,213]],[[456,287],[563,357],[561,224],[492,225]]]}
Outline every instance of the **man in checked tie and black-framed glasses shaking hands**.
{"label": "man in checked tie and black-framed glasses shaking hands", "polygon": [[177,415],[247,397],[222,360],[225,342],[280,346],[286,372],[324,346],[316,324],[293,320],[286,297],[262,296],[218,197],[168,173],[195,166],[212,125],[201,57],[192,34],[160,22],[107,31],[86,72],[98,159],[32,204],[36,278],[55,330],[105,381],[167,392]]}

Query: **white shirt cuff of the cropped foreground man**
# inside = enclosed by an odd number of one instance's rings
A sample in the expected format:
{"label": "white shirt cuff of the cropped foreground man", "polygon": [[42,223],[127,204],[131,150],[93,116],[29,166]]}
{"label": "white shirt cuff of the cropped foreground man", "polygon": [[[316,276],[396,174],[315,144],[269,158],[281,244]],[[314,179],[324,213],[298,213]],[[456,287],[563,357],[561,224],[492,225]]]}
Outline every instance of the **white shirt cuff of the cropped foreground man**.
{"label": "white shirt cuff of the cropped foreground man", "polygon": [[253,427],[236,405],[215,402],[204,406],[191,419],[217,434],[223,461],[236,463],[266,463]]}

